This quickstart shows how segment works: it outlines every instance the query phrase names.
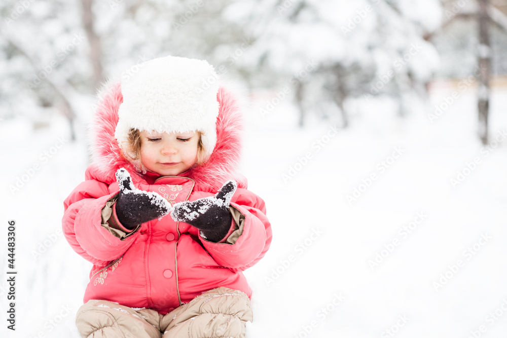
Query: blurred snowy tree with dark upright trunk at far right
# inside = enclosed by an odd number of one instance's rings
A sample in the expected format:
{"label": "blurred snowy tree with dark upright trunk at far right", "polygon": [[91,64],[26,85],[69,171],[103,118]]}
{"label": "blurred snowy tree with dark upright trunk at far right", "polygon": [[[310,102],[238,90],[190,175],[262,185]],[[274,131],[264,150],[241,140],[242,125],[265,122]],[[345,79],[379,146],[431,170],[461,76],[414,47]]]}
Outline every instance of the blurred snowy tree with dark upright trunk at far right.
{"label": "blurred snowy tree with dark upright trunk at far right", "polygon": [[489,0],[446,1],[444,23],[431,36],[442,56],[440,75],[478,84],[478,134],[483,144],[489,142],[490,77],[507,73],[503,57],[507,50],[507,15],[499,8]]}

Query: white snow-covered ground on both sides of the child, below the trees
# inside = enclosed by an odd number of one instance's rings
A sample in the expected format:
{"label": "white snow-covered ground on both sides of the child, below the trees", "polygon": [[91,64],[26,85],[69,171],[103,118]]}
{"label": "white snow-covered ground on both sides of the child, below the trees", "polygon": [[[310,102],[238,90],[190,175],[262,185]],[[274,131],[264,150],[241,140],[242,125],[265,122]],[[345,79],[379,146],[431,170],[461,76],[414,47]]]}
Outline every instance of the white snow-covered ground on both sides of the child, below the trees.
{"label": "white snow-covered ground on both sides of the child, below the trees", "polygon": [[[433,87],[431,106],[453,90]],[[507,91],[492,95],[490,131],[503,140]],[[264,118],[265,99],[252,104],[242,171],[266,201],[273,243],[246,272],[248,337],[507,334],[507,142],[483,148],[474,89],[457,97],[433,123],[434,107],[402,120],[388,100],[358,101],[337,134],[332,121],[298,129],[287,102]],[[65,121],[53,122],[35,133],[22,120],[0,123],[3,337],[78,337],[90,265],[68,246],[61,217],[87,153],[67,140]],[[8,220],[16,221],[15,332],[5,320]]]}

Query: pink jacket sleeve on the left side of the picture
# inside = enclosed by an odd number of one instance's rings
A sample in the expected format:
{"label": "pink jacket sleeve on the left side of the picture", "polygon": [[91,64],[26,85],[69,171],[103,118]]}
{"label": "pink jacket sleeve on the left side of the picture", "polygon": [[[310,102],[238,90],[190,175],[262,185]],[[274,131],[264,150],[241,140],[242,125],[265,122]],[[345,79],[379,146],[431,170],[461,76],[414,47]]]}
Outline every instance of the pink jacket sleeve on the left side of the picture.
{"label": "pink jacket sleeve on the left side of the picture", "polygon": [[106,183],[86,179],[63,202],[65,238],[74,251],[96,265],[105,265],[122,256],[136,237],[137,232],[123,238],[114,234],[103,218],[102,209],[108,208],[117,195],[118,191],[111,193]]}

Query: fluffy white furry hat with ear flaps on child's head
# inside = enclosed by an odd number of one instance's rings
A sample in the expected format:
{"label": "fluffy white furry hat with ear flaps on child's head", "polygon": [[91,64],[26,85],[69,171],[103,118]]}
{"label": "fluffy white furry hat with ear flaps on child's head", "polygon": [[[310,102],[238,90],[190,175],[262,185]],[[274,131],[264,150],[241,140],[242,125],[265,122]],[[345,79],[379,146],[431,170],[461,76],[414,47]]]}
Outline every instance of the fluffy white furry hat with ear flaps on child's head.
{"label": "fluffy white furry hat with ear flaps on child's head", "polygon": [[[200,131],[205,158],[216,143],[218,75],[204,60],[166,56],[139,64],[121,82],[115,138],[120,148],[131,128],[159,133]],[[132,73],[132,71],[130,72]]]}

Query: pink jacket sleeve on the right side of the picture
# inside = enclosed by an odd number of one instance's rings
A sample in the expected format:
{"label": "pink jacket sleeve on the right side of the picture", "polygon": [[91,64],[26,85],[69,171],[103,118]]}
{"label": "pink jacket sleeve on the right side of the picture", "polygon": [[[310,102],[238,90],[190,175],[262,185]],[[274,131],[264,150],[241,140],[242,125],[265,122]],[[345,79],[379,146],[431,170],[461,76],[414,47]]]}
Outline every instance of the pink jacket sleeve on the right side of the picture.
{"label": "pink jacket sleeve on the right side of the picture", "polygon": [[[264,201],[245,189],[237,189],[231,199],[231,207],[237,210],[233,219],[238,220],[238,230],[233,241],[213,243],[202,238],[206,250],[223,267],[243,271],[255,265],[268,251],[271,244],[271,224],[266,217]],[[231,243],[233,242],[233,244]]]}

